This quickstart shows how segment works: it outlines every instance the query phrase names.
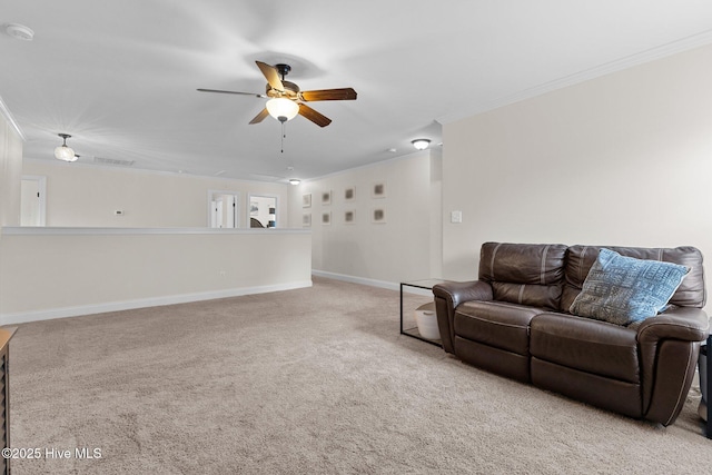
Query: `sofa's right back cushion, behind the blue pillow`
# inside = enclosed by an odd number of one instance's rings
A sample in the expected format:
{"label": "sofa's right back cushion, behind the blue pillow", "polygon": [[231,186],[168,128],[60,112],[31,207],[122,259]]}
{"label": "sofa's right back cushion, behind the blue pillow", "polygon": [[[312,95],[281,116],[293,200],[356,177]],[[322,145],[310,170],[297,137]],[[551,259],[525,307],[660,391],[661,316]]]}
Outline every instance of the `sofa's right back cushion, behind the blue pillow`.
{"label": "sofa's right back cushion, behind the blue pillow", "polygon": [[704,288],[704,271],[702,268],[702,253],[691,246],[675,248],[644,248],[616,246],[571,246],[566,250],[565,283],[561,297],[561,311],[568,311],[571,304],[581,293],[589,270],[595,263],[602,247],[614,250],[621,256],[635,259],[662,260],[680,264],[690,268],[690,273],[682,280],[678,290],[670,299],[670,304],[681,307],[704,307],[706,295]]}

